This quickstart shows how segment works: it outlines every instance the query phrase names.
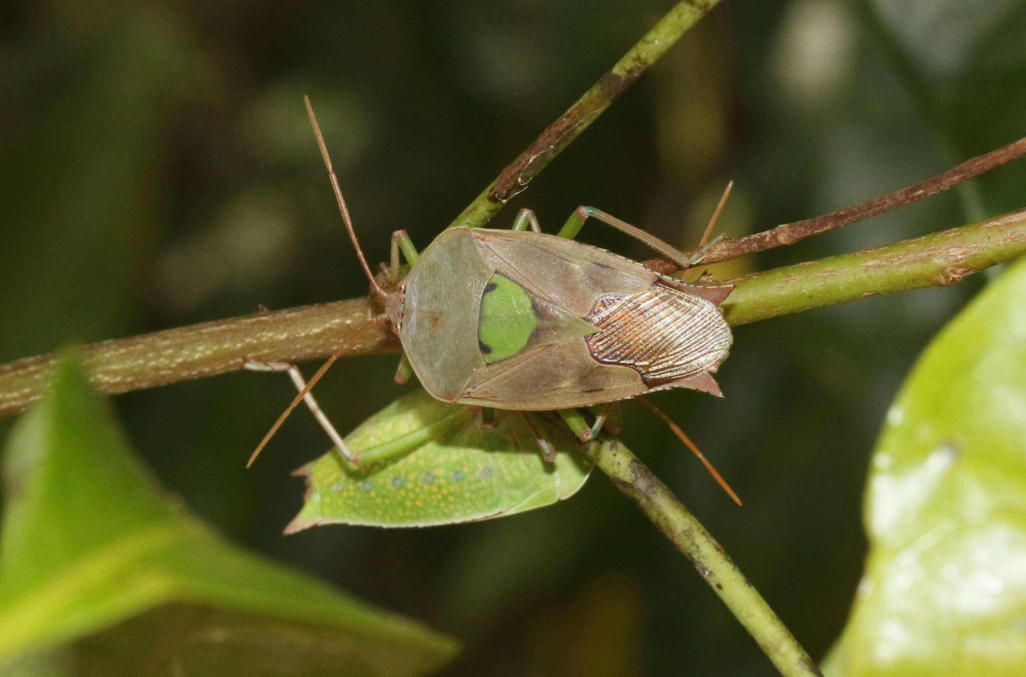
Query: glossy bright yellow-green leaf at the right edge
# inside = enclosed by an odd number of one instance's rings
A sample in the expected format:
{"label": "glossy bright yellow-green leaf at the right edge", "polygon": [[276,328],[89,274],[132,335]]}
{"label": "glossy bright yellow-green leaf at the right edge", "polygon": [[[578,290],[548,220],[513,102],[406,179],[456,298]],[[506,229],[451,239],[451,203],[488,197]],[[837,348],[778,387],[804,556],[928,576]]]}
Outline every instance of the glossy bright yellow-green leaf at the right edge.
{"label": "glossy bright yellow-green leaf at the right edge", "polygon": [[829,674],[1026,674],[1026,261],[919,359],[865,518],[866,573]]}

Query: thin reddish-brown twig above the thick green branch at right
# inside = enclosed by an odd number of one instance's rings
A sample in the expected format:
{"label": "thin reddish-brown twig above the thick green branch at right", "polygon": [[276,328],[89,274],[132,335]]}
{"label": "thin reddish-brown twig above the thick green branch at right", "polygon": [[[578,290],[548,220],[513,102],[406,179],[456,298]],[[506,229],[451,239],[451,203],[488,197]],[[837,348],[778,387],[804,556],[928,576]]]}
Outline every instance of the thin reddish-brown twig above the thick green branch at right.
{"label": "thin reddish-brown twig above the thick green branch at right", "polygon": [[[793,244],[812,235],[818,235],[819,233],[825,233],[841,226],[854,224],[857,221],[876,216],[884,211],[891,211],[892,209],[903,207],[906,204],[911,204],[931,195],[946,191],[949,188],[979,176],[986,171],[1021,158],[1024,155],[1026,155],[1026,138],[1020,138],[996,151],[991,151],[990,153],[966,160],[944,173],[931,176],[914,186],[881,195],[872,200],[867,200],[820,216],[814,216],[813,218],[796,221],[793,224],[784,224],[783,226],[778,226],[761,233],[755,233],[754,235],[748,235],[737,240],[721,240],[702,256],[698,265],[702,266],[729,261],[758,251],[773,249],[781,245]],[[695,255],[698,253],[700,253],[699,249],[684,252],[685,255]],[[645,265],[661,273],[672,273],[680,269],[680,266],[675,262],[667,258],[655,258],[645,262]]]}

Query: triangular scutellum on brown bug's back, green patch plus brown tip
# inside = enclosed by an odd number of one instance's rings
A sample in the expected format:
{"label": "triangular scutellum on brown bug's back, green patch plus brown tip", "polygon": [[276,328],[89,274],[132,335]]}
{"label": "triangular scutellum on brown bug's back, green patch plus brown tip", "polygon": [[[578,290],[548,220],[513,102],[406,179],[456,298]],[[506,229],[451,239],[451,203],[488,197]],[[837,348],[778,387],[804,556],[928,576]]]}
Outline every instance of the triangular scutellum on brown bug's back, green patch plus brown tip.
{"label": "triangular scutellum on brown bug's back, green patch plus brown tip", "polygon": [[529,348],[595,333],[598,328],[547,301],[537,298],[505,275],[496,273],[481,295],[477,324],[481,355],[488,364]]}

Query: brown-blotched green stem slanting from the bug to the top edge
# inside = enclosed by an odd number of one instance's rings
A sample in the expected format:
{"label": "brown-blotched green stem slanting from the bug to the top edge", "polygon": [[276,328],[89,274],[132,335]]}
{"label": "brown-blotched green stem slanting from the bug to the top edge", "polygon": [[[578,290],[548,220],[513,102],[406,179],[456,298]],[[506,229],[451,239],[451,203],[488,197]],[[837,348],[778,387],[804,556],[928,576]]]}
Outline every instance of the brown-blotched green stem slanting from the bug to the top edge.
{"label": "brown-blotched green stem slanting from the bug to the top edge", "polygon": [[531,178],[588,128],[617,96],[634,84],[719,0],[684,0],[666,13],[659,24],[623,55],[616,65],[586,91],[559,118],[546,127],[538,138],[481,191],[448,228],[479,228],[495,216],[510,198],[527,188]]}

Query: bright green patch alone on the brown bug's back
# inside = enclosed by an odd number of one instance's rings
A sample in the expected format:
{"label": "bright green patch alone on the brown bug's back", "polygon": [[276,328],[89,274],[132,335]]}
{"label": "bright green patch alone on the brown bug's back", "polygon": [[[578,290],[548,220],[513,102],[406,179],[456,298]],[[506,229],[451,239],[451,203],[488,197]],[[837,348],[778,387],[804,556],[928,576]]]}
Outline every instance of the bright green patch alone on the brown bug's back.
{"label": "bright green patch alone on the brown bug's back", "polygon": [[504,275],[492,275],[481,296],[477,322],[484,361],[490,364],[522,351],[538,321],[527,291]]}

